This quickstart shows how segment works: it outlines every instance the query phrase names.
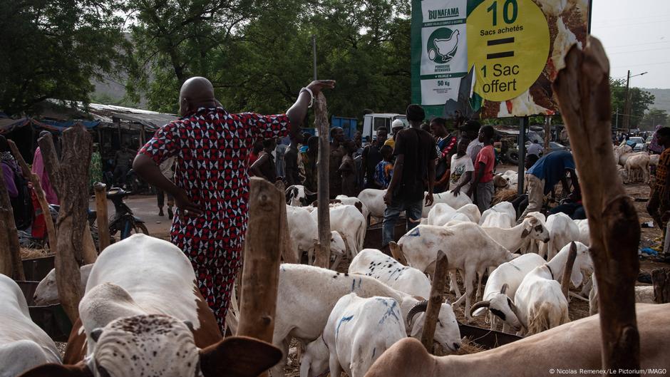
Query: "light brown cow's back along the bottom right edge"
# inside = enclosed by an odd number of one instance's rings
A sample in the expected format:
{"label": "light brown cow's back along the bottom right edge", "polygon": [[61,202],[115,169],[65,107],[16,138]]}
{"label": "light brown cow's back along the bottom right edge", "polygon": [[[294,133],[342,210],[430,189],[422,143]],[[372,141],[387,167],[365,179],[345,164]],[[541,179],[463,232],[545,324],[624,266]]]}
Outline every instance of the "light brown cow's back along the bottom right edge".
{"label": "light brown cow's back along the bottom right edge", "polygon": [[[670,369],[670,304],[637,304],[636,309],[640,366],[643,371],[658,368],[654,374],[664,374]],[[602,366],[599,321],[599,316],[590,316],[463,356],[432,356],[416,339],[403,339],[388,348],[365,377],[600,375],[595,372]]]}

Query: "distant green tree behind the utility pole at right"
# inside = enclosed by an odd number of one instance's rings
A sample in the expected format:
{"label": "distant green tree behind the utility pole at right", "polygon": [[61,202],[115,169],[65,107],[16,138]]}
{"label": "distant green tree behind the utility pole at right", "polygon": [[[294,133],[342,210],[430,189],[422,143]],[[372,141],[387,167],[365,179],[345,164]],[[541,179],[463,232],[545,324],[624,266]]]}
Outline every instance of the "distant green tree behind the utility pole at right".
{"label": "distant green tree behind the utility pole at right", "polygon": [[[609,88],[612,93],[612,123],[622,127],[624,124],[626,103],[626,81],[609,79]],[[630,88],[631,114],[630,127],[639,128],[644,111],[654,103],[654,95],[640,88]],[[618,111],[617,111],[618,110]]]}

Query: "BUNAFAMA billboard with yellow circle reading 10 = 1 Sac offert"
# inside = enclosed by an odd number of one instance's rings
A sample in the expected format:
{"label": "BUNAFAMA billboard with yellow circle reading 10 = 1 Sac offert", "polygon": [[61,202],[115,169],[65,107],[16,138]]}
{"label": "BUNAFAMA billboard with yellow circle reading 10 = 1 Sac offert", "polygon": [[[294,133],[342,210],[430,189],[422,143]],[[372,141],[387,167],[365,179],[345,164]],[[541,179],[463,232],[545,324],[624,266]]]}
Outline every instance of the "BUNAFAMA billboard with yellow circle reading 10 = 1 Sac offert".
{"label": "BUNAFAMA billboard with yellow circle reading 10 = 1 Sac offert", "polygon": [[[460,29],[457,29],[456,35],[458,48],[467,46],[465,69],[462,60],[450,63],[452,59],[442,63],[445,61],[443,53],[447,52],[448,57],[451,52],[444,50],[453,47],[453,37],[449,36],[455,32],[449,35],[442,33],[431,39],[432,31],[425,30],[434,22],[435,16],[448,15],[444,11],[436,13],[436,9],[460,11],[463,6],[467,12],[465,25],[459,24],[458,28],[465,26],[465,38]],[[589,0],[414,0],[413,102],[427,106],[426,110],[431,115],[441,115],[443,106],[439,105],[457,99],[460,84],[457,78],[472,71],[470,103],[475,106],[474,110],[480,111],[482,118],[555,113],[557,103],[552,95],[551,83],[558,70],[565,66],[568,49],[574,43],[579,46],[585,43],[588,12]],[[421,51],[420,70],[415,66],[419,57],[419,36],[421,46],[425,46]],[[435,39],[437,43],[433,42]],[[423,55],[428,57],[428,61],[433,61],[433,66],[425,63]],[[436,59],[430,60],[431,56]],[[442,90],[433,81],[447,82],[439,77],[439,69],[453,69],[449,72],[453,76],[448,78],[448,88]]]}

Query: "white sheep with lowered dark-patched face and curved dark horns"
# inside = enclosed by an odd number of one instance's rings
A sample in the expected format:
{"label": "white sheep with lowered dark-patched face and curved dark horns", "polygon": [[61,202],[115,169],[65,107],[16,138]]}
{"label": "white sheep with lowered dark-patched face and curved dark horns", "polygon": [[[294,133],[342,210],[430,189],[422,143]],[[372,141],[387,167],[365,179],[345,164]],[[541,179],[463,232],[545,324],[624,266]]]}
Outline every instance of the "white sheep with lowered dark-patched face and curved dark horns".
{"label": "white sheep with lowered dark-patched face and curved dark horns", "polygon": [[507,332],[508,327],[520,331],[521,322],[512,299],[523,278],[542,264],[545,264],[545,259],[535,253],[523,254],[510,262],[500,264],[486,280],[483,300],[473,305],[470,314],[480,316],[488,310],[492,330],[495,330],[496,319],[499,318],[503,321],[503,331]]}

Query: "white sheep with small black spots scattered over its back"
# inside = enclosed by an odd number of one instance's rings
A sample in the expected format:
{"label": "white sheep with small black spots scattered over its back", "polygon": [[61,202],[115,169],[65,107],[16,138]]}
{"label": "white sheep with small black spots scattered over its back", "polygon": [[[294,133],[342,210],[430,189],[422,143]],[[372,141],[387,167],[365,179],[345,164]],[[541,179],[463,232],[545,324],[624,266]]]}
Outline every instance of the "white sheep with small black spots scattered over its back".
{"label": "white sheep with small black spots scattered over its back", "polygon": [[349,274],[373,277],[406,294],[428,299],[431,296],[431,281],[426,274],[384,254],[377,249],[364,249],[356,254],[349,264]]}

